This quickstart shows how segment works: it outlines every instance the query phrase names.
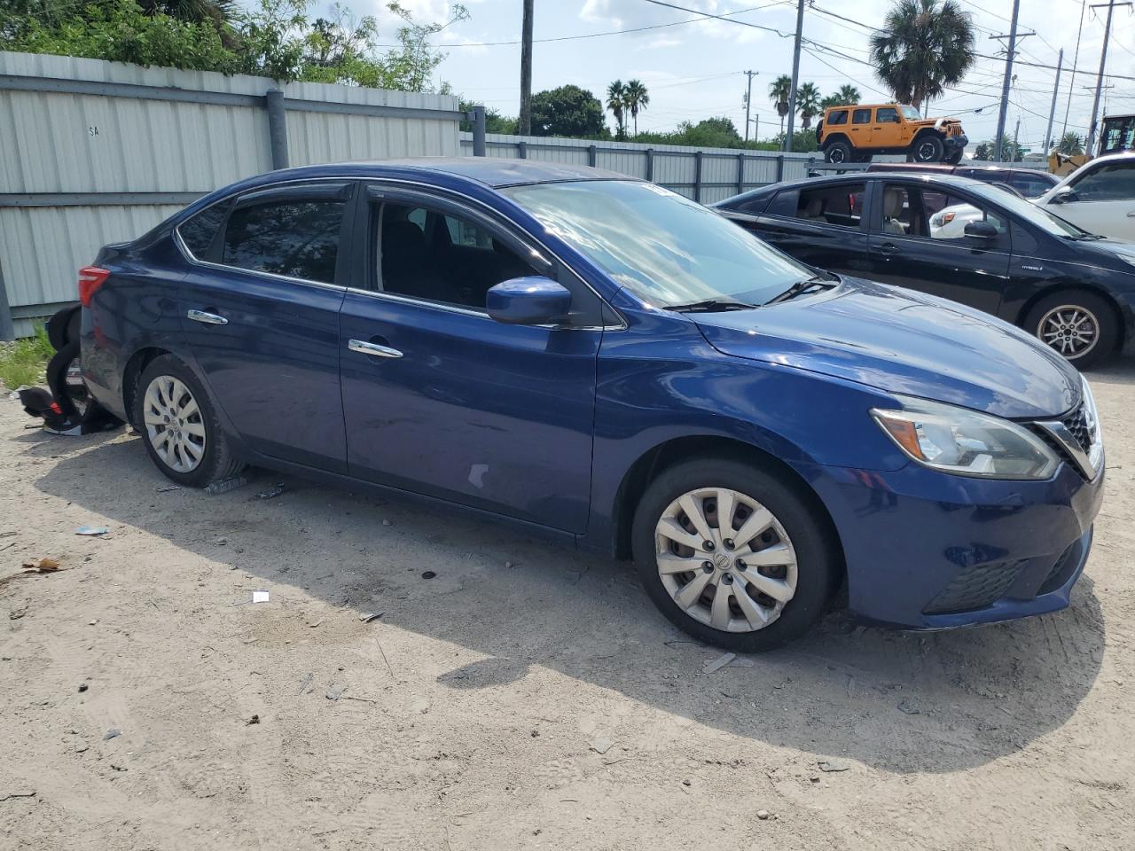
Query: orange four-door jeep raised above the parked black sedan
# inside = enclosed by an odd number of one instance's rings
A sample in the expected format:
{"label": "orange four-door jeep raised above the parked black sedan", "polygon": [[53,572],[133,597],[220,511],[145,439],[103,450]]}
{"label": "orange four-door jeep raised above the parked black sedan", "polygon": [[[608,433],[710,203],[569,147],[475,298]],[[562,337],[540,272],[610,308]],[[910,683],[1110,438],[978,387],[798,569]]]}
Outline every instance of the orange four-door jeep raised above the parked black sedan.
{"label": "orange four-door jeep raised above the parked black sedan", "polygon": [[829,107],[816,127],[829,162],[869,162],[876,153],[905,153],[915,162],[961,160],[969,141],[957,118],[923,118],[902,103]]}

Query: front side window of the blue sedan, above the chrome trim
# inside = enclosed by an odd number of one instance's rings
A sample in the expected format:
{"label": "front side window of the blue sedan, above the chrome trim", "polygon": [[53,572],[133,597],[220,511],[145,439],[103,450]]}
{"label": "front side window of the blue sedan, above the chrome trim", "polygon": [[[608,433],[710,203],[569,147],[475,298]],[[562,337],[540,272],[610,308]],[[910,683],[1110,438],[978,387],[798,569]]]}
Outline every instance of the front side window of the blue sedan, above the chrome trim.
{"label": "front side window of the blue sedan, above the chrome trim", "polygon": [[400,203],[382,204],[372,219],[386,293],[484,309],[490,287],[538,273],[473,220]]}

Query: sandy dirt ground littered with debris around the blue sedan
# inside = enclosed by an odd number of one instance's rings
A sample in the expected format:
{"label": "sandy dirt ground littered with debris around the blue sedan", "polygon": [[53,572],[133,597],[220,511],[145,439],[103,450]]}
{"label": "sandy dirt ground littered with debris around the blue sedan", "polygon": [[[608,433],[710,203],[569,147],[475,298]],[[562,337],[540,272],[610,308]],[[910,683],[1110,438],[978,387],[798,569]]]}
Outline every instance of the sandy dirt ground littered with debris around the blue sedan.
{"label": "sandy dirt ground littered with debris around the blue sedan", "polygon": [[1092,380],[1068,610],[833,613],[711,674],[624,565],[267,472],[170,489],[0,401],[0,575],[64,568],[0,587],[0,848],[1129,849],[1135,362]]}

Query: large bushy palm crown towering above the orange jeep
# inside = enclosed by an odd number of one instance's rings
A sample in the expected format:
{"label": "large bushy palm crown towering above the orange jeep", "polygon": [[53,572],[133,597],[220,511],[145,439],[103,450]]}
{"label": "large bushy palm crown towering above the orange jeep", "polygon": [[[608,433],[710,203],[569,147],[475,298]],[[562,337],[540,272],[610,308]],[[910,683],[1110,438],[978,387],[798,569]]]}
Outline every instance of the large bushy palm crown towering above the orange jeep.
{"label": "large bushy palm crown towering above the orange jeep", "polygon": [[922,107],[973,66],[973,20],[957,0],[897,0],[871,36],[871,60],[897,101]]}

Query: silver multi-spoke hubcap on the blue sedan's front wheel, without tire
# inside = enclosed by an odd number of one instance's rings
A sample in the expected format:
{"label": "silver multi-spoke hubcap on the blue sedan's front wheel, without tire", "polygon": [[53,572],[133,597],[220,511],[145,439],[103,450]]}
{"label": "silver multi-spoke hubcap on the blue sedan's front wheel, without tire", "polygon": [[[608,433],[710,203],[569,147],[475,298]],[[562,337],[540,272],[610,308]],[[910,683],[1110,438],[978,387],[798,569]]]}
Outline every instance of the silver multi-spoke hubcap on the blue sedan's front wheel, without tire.
{"label": "silver multi-spoke hubcap on the blue sedan's front wheel, without tire", "polygon": [[753,497],[699,488],[655,526],[658,576],[690,617],[723,632],[756,632],[796,596],[797,561],[780,521]]}

